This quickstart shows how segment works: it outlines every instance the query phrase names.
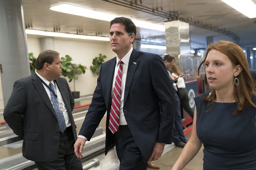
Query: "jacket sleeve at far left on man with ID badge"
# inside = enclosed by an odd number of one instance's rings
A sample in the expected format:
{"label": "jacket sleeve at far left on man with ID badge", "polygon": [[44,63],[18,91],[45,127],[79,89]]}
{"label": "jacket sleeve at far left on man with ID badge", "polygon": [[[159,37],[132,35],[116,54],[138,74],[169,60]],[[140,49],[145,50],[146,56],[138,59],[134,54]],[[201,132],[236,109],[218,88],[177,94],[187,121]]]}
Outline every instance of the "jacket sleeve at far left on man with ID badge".
{"label": "jacket sleeve at far left on man with ID badge", "polygon": [[24,85],[16,81],[12,94],[3,111],[3,118],[13,132],[18,136],[24,136],[23,112],[26,108],[26,92]]}

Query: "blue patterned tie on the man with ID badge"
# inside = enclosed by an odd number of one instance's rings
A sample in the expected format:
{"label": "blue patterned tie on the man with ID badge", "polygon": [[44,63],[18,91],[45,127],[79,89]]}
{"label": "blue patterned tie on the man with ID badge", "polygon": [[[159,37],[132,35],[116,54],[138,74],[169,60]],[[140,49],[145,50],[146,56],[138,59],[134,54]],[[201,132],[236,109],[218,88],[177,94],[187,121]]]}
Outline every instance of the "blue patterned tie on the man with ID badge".
{"label": "blue patterned tie on the man with ID badge", "polygon": [[[55,92],[53,84],[50,82],[49,84],[50,88]],[[60,111],[59,106],[58,106],[58,101],[57,101],[57,97],[53,94],[52,91],[50,91],[51,94],[51,100],[53,102],[53,107],[54,107],[54,111],[56,113],[57,119],[58,119],[58,123],[59,123],[59,127],[60,127],[60,131],[64,132],[66,129],[66,122],[65,122],[65,118],[63,113]]]}

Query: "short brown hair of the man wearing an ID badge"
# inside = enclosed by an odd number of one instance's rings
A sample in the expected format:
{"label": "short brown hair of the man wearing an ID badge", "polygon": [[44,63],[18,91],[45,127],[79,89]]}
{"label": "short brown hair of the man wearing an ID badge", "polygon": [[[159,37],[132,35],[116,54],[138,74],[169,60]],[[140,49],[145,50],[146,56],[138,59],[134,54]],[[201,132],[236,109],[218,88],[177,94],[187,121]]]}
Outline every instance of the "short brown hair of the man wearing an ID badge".
{"label": "short brown hair of the man wearing an ID badge", "polygon": [[60,53],[54,50],[44,50],[42,51],[36,61],[35,61],[35,68],[37,70],[41,70],[43,68],[44,63],[52,64],[54,61],[54,58],[60,56]]}

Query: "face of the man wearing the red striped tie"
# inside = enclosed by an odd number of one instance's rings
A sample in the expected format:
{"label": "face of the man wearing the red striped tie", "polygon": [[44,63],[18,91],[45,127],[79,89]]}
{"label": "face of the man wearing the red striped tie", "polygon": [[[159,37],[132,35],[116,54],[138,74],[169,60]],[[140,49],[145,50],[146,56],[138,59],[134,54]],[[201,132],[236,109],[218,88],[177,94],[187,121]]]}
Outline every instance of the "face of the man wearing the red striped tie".
{"label": "face of the man wearing the red striped tie", "polygon": [[134,38],[134,34],[128,36],[123,24],[112,24],[110,28],[110,44],[112,51],[118,56],[122,57],[130,50]]}

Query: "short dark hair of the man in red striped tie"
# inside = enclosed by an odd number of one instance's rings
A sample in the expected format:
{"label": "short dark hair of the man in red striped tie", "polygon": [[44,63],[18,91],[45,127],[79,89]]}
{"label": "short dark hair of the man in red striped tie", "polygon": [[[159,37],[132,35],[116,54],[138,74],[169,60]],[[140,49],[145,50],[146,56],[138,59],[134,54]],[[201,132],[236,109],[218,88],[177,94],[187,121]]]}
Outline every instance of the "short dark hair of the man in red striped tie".
{"label": "short dark hair of the man in red striped tie", "polygon": [[110,28],[113,24],[122,24],[125,26],[125,31],[128,32],[128,36],[131,36],[131,34],[135,34],[136,36],[136,26],[129,18],[125,17],[117,17],[110,21]]}

